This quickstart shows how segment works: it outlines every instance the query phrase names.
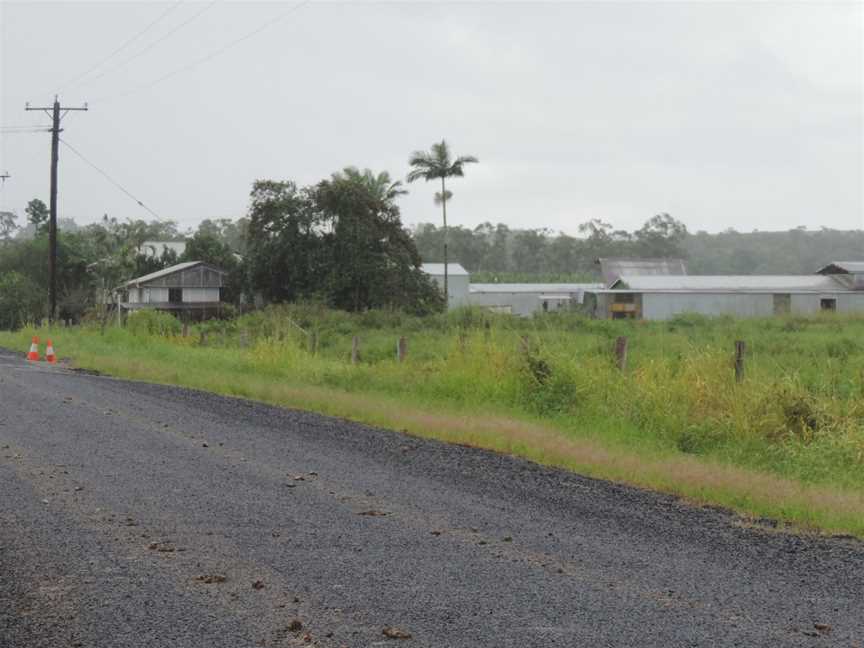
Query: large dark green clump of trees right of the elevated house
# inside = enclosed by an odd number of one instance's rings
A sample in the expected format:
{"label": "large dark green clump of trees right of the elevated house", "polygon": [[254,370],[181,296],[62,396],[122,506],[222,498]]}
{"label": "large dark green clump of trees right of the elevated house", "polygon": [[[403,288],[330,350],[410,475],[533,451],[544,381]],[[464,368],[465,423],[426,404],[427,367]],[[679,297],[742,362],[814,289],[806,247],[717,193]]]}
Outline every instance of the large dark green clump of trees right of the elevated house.
{"label": "large dark green clump of trees right of the elevated house", "polygon": [[317,297],[337,308],[441,306],[402,227],[386,173],[349,167],[313,187],[262,180],[252,189],[246,277],[270,301]]}

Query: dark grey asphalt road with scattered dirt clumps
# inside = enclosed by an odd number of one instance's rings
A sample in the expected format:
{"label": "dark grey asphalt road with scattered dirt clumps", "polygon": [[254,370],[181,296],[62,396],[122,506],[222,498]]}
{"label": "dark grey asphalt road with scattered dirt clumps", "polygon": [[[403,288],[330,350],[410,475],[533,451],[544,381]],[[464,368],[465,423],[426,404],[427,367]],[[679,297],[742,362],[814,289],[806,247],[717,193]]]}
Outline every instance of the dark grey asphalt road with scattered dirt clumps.
{"label": "dark grey asphalt road with scattered dirt clumps", "polygon": [[19,355],[0,379],[4,648],[864,646],[855,540]]}

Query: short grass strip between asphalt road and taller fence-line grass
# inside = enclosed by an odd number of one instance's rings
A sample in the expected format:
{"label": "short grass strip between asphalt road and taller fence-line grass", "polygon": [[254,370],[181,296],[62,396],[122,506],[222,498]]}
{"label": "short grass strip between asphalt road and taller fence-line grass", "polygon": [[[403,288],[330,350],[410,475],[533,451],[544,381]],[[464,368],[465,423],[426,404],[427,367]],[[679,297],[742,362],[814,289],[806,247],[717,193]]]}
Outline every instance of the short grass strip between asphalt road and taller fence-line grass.
{"label": "short grass strip between asphalt road and taller fence-line grass", "polygon": [[[0,345],[25,350],[33,333],[0,333]],[[544,417],[494,399],[485,405],[477,400],[448,400],[435,391],[410,388],[416,384],[411,381],[406,391],[388,393],[382,383],[370,378],[371,372],[392,373],[404,380],[398,366],[352,367],[296,349],[274,349],[271,340],[250,348],[208,348],[188,339],[134,336],[125,330],[109,330],[105,335],[92,329],[39,334],[53,337],[61,357],[71,357],[74,366],[120,378],[320,412],[513,454],[697,504],[728,507],[746,517],[780,520],[799,530],[864,538],[864,493],[854,484],[812,483],[775,469],[735,465],[737,455],[730,453],[681,452],[643,434],[632,421],[599,410],[575,420],[565,415]],[[435,362],[430,359],[411,371],[428,378]]]}

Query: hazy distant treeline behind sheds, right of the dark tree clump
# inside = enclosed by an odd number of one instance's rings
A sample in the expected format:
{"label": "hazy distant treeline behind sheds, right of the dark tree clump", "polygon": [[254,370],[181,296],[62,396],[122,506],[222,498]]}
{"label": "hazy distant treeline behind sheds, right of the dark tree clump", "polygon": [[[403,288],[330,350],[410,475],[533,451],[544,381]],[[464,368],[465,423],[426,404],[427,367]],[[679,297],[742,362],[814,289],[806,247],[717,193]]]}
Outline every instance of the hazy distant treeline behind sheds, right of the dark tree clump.
{"label": "hazy distant treeline behind sheds, right of the dark tree clump", "polygon": [[[668,214],[634,232],[613,230],[600,221],[579,230],[574,237],[547,229],[510,229],[503,223],[450,227],[449,257],[484,281],[502,282],[590,280],[599,276],[598,257],[680,257],[691,274],[811,274],[831,261],[864,260],[861,230],[691,234]],[[421,224],[413,234],[424,261],[441,261],[442,228]]]}

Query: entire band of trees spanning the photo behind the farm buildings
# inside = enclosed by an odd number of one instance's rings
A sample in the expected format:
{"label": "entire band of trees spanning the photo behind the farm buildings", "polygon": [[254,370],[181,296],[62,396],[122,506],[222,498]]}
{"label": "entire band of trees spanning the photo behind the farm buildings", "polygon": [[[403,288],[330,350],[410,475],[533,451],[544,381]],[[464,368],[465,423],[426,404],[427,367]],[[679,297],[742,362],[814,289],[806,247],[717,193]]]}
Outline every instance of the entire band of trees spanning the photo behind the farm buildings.
{"label": "entire band of trees spanning the photo behind the farm buildings", "polygon": [[[229,299],[320,299],[349,310],[375,307],[428,312],[441,295],[420,270],[421,259],[441,261],[441,227],[402,226],[396,200],[404,192],[387,173],[353,167],[318,184],[261,180],[253,185],[248,217],[203,221],[194,232],[172,221],[103,217],[84,226],[62,219],[58,228],[59,316],[78,319],[99,296],[128,279],[181,259],[148,254],[144,241],[186,241],[182,260],[202,260],[229,271]],[[46,313],[47,208],[34,199],[27,224],[0,218],[0,327]],[[510,229],[483,223],[451,227],[450,258],[477,281],[596,280],[602,256],[683,257],[692,274],[809,274],[837,260],[864,259],[864,232],[803,228],[787,232],[687,232],[658,214],[628,232],[602,220],[576,236],[547,229]],[[238,254],[240,256],[238,256]]]}

